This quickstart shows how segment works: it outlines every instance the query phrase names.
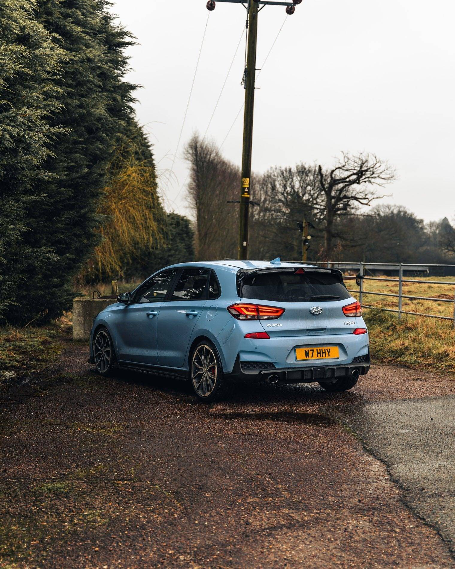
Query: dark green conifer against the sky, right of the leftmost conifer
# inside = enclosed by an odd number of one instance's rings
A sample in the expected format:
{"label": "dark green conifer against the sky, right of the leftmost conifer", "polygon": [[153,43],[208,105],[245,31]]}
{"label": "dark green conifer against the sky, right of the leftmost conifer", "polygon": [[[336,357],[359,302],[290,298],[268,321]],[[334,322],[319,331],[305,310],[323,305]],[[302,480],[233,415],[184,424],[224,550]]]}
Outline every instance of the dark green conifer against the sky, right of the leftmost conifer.
{"label": "dark green conifer against the sky, right of the leftmost conifer", "polygon": [[114,23],[103,0],[39,0],[36,19],[63,51],[60,76],[54,78],[61,108],[49,119],[62,134],[48,152],[38,180],[44,199],[28,211],[23,246],[52,251],[34,271],[33,255],[24,259],[27,279],[23,300],[7,313],[23,323],[59,316],[71,307],[73,277],[97,244],[97,199],[115,144],[133,117],[134,85],[123,80],[129,34]]}

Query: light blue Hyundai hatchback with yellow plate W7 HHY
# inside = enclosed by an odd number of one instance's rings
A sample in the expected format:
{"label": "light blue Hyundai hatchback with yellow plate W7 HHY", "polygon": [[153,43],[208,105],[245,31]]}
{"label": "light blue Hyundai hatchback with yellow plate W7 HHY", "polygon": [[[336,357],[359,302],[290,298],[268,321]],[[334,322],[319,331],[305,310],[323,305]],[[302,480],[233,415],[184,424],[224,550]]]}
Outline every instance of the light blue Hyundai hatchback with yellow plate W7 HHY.
{"label": "light blue Hyundai hatchback with yellow plate W7 HHY", "polygon": [[340,271],[280,259],[172,265],[94,319],[90,362],[191,380],[214,401],[235,382],[345,391],[370,368],[360,304]]}

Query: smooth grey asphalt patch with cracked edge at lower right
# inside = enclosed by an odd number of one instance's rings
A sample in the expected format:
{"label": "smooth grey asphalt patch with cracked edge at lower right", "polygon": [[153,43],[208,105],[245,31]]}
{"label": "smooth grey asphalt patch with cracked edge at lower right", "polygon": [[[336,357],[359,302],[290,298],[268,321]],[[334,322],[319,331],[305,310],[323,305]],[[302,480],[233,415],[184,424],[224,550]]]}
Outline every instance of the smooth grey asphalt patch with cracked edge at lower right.
{"label": "smooth grey asphalt patch with cracked edge at lower right", "polygon": [[371,403],[344,419],[455,552],[455,396]]}

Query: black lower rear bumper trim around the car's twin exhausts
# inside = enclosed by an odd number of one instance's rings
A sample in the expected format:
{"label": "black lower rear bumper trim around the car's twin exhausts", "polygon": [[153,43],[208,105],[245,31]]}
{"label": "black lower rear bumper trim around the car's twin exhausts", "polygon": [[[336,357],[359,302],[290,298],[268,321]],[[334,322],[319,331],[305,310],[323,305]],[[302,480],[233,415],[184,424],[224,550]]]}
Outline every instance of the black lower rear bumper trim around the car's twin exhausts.
{"label": "black lower rear bumper trim around the car's twin exhausts", "polygon": [[352,362],[342,365],[315,365],[302,366],[299,368],[267,368],[267,369],[244,369],[239,358],[235,361],[234,369],[229,374],[229,379],[236,383],[266,381],[270,376],[278,376],[278,381],[289,384],[303,384],[317,381],[333,380],[338,377],[351,376],[354,370],[359,375],[365,376],[370,370],[370,357],[365,356],[365,361]]}

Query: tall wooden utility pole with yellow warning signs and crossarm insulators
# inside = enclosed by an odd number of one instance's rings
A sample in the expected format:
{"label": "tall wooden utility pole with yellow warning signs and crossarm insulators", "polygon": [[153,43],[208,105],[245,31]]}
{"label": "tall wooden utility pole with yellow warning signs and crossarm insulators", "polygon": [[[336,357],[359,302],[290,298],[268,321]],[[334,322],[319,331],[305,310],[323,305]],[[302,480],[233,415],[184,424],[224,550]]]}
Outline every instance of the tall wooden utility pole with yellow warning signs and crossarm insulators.
{"label": "tall wooden utility pole with yellow warning signs and crossarm insulators", "polygon": [[[243,115],[243,152],[242,152],[242,185],[239,208],[239,239],[238,258],[248,258],[249,246],[249,214],[250,214],[250,184],[251,184],[251,151],[253,149],[253,114],[254,90],[256,78],[256,48],[258,43],[258,13],[264,6],[286,6],[286,13],[291,15],[295,6],[302,0],[293,2],[276,2],[274,0],[209,0],[207,9],[214,10],[217,2],[243,4],[248,11],[247,28],[247,63],[243,82],[245,86],[245,113]],[[259,7],[260,6],[260,7]]]}

